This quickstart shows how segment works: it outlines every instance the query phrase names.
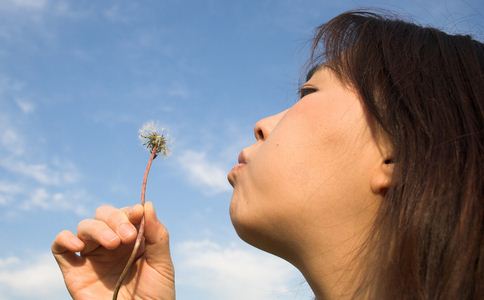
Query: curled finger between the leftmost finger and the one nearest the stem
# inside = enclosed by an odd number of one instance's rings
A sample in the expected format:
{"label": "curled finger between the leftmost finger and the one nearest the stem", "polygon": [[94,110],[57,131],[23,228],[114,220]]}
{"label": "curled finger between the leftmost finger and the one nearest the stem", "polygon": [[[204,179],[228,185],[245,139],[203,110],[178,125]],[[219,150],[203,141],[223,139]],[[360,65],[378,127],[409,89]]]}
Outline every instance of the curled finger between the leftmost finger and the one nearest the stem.
{"label": "curled finger between the leftmost finger and the one nearest the stem", "polygon": [[85,219],[77,226],[77,236],[84,242],[95,242],[106,249],[116,249],[120,237],[103,221]]}

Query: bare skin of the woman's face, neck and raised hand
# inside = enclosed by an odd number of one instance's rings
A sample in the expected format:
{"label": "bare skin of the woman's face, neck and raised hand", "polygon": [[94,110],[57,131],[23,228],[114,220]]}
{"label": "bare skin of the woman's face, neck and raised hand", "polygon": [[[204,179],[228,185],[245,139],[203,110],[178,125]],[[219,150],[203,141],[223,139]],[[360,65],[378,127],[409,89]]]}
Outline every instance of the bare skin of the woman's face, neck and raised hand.
{"label": "bare skin of the woman's face, neck and raised hand", "polygon": [[[375,138],[357,94],[327,68],[291,108],[255,125],[256,142],[228,174],[230,217],[238,235],[297,267],[318,299],[349,298],[351,262],[391,178],[388,151]],[[168,232],[145,205],[137,270],[118,299],[175,299]],[[61,232],[52,252],[74,299],[109,299],[136,238],[143,209],[102,206],[78,232]],[[111,233],[109,238],[104,233]],[[81,256],[75,254],[81,251]],[[120,263],[123,262],[123,263]],[[96,295],[96,297],[94,297]]]}

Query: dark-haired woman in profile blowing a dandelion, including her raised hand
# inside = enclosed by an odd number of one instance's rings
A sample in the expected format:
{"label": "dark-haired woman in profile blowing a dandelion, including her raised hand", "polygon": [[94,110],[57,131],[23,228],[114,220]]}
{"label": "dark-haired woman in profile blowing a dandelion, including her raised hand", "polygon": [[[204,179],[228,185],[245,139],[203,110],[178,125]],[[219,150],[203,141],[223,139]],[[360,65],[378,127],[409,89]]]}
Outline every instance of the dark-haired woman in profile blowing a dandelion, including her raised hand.
{"label": "dark-haired woman in profile blowing a dandelion, including her raised hand", "polygon": [[[311,65],[228,175],[238,235],[317,299],[483,299],[484,45],[348,12],[318,28]],[[144,213],[119,299],[174,299],[168,232]],[[56,237],[73,298],[110,298],[142,214],[103,206]]]}

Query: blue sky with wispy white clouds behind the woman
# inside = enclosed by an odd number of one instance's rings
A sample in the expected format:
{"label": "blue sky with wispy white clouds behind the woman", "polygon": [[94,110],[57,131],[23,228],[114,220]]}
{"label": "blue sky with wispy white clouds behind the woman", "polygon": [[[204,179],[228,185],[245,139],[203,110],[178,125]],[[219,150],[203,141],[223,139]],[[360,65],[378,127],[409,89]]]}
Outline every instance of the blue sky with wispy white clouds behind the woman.
{"label": "blue sky with wispy white clouds behind the woman", "polygon": [[226,173],[254,123],[291,106],[313,29],[359,7],[484,37],[479,0],[0,0],[0,300],[67,299],[56,233],[147,198],[171,233],[179,299],[311,299],[292,266],[252,249]]}

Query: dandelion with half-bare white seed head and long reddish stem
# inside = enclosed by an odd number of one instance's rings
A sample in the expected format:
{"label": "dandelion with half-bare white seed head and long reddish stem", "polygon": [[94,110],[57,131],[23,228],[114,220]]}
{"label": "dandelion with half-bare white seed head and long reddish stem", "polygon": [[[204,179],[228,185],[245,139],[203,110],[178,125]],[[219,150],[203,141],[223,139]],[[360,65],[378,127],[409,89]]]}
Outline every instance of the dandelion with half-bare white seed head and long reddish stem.
{"label": "dandelion with half-bare white seed head and long reddish stem", "polygon": [[[150,121],[141,127],[139,130],[139,138],[143,145],[150,151],[151,155],[148,160],[148,164],[146,165],[145,174],[143,176],[143,184],[141,185],[141,205],[145,205],[145,193],[146,193],[146,183],[148,181],[148,174],[150,173],[151,163],[153,160],[158,156],[158,154],[168,155],[168,146],[167,146],[167,135],[166,130],[164,128],[160,128],[155,122]],[[141,240],[143,239],[145,231],[145,217],[143,215],[141,219],[141,223],[138,230],[138,235],[136,236],[136,242],[134,244],[133,250],[131,255],[124,267],[119,279],[116,283],[113,293],[113,300],[118,298],[118,292],[123,284],[124,279],[128,275],[129,269],[133,265],[133,262],[136,258],[136,254],[138,253],[138,249],[141,245]]]}

